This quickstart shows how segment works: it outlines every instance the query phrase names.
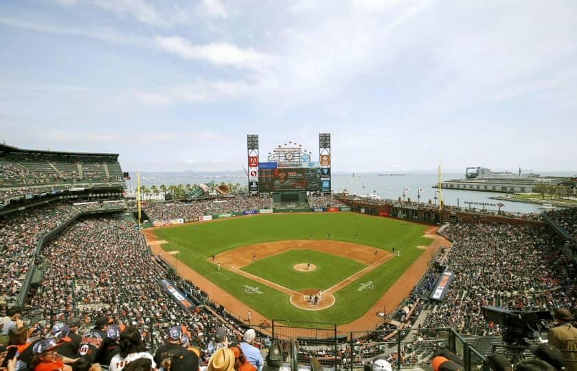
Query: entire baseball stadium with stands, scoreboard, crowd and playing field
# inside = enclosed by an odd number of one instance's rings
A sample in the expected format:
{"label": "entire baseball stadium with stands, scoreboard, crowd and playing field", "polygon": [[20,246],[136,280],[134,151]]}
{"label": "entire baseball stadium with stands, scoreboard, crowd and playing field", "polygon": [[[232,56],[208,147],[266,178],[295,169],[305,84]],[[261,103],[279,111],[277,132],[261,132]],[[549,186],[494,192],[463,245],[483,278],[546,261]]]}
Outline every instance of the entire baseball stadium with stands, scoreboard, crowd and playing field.
{"label": "entire baseball stadium with stands, scoreboard, crowd and playing field", "polygon": [[577,313],[577,209],[455,207],[440,181],[438,204],[335,193],[330,142],[263,156],[247,135],[242,187],[162,199],[119,154],[1,145],[1,340],[20,347],[16,370],[54,348],[112,369],[131,331],[155,361],[188,349],[194,366],[178,370],[219,370],[212,356],[236,341],[259,371],[490,370],[543,354],[575,370],[558,328]]}

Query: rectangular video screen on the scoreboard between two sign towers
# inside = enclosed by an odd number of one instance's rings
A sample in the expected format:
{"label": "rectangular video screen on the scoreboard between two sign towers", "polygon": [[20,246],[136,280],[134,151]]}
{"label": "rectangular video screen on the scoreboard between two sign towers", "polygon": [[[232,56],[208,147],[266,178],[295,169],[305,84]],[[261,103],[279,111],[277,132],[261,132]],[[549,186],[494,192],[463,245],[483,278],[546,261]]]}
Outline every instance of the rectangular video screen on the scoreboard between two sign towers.
{"label": "rectangular video screen on the scoreboard between two sign towers", "polygon": [[321,190],[321,169],[260,169],[258,172],[258,191],[274,192],[280,190]]}

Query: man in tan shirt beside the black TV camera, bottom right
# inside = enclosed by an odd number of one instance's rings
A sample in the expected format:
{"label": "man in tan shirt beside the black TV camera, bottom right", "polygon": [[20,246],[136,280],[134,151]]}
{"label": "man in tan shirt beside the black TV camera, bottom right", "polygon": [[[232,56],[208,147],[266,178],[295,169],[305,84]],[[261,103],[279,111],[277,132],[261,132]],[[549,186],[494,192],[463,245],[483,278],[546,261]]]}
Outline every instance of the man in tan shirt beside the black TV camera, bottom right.
{"label": "man in tan shirt beside the black TV camera, bottom right", "polygon": [[571,312],[557,308],[555,319],[557,326],[549,330],[549,344],[563,352],[567,371],[577,371],[577,328],[571,324]]}

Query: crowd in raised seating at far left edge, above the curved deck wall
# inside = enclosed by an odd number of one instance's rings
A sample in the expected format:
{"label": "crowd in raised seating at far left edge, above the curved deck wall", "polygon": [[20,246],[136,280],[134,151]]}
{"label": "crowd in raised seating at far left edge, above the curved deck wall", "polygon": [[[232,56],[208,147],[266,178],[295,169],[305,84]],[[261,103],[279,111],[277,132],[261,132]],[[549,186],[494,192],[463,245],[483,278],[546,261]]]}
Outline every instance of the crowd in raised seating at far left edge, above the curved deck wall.
{"label": "crowd in raised seating at far left edge, above the curved deck wall", "polygon": [[67,203],[53,203],[0,218],[0,295],[12,303],[20,293],[30,258],[38,242],[77,211]]}

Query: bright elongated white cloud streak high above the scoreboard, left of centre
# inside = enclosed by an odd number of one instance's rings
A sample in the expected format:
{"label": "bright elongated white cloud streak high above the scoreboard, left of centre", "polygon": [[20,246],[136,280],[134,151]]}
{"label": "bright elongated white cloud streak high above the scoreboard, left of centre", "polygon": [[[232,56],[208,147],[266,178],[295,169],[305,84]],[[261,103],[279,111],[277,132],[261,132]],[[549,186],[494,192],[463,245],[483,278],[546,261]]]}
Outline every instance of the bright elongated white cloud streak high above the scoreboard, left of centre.
{"label": "bright elongated white cloud streak high above the scoreboard, left of centre", "polygon": [[195,45],[181,36],[156,36],[155,42],[166,52],[188,60],[205,60],[217,66],[260,67],[267,59],[252,48],[241,49],[229,43]]}

